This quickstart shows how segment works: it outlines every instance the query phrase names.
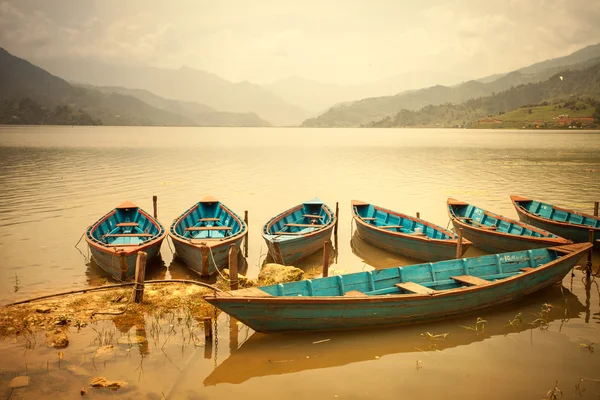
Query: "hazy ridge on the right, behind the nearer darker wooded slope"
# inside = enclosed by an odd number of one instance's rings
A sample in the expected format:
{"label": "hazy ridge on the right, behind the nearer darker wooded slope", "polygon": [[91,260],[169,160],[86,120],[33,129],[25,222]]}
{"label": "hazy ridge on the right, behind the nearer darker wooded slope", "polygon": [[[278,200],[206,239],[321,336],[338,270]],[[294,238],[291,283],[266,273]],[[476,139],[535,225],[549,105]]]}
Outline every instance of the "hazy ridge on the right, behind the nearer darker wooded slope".
{"label": "hazy ridge on the right, behind the nearer darker wooded slope", "polygon": [[454,87],[433,86],[336,105],[319,117],[303,122],[306,127],[352,127],[395,115],[400,110],[416,111],[427,105],[462,103],[477,97],[490,96],[522,84],[540,82],[565,68],[583,69],[598,61],[600,44],[588,46],[569,56],[548,60],[519,70],[473,80]]}

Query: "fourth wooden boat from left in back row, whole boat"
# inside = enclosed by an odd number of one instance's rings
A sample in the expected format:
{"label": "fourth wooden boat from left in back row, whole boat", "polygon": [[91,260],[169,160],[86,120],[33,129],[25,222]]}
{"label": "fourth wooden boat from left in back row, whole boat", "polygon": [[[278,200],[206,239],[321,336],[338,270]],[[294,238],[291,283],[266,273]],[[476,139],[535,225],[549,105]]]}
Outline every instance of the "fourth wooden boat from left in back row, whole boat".
{"label": "fourth wooden boat from left in back row, whole boat", "polygon": [[[352,200],[352,217],[358,236],[380,249],[423,261],[456,257],[458,236],[430,222],[359,200]],[[463,238],[463,253],[470,245]]]}

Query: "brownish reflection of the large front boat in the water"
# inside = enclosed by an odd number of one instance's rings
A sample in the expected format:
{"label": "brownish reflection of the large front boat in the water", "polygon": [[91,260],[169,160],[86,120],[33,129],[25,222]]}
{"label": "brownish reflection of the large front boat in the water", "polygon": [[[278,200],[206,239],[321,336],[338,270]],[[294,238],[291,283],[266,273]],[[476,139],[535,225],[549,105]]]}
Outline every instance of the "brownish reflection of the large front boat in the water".
{"label": "brownish reflection of the large front boat in the water", "polygon": [[[253,333],[232,319],[229,330],[231,355],[206,377],[204,385],[239,384],[255,377],[339,367],[386,355],[444,350],[482,342],[494,336],[540,329],[539,323],[532,322],[539,318],[547,304],[552,304],[544,314],[548,324],[568,323],[569,319],[577,318],[585,311],[577,296],[567,288],[555,285],[517,303],[487,310],[484,314],[403,327],[303,332],[302,335],[261,334]],[[519,314],[522,322],[517,321]],[[485,330],[476,333],[466,329],[465,326],[475,324],[478,316],[486,320]],[[239,336],[238,327],[242,327]],[[445,334],[445,337],[433,337],[440,334]],[[249,338],[244,342],[247,335]],[[239,348],[238,342],[243,342]]]}

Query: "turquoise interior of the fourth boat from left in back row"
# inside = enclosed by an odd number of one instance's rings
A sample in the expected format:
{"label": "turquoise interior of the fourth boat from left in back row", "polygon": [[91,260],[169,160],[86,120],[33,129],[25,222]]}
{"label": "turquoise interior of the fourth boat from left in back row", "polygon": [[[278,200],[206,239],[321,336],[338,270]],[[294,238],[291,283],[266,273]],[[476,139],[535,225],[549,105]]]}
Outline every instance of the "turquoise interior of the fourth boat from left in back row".
{"label": "turquoise interior of the fourth boat from left in back row", "polygon": [[369,225],[392,232],[401,232],[414,236],[427,236],[432,239],[453,239],[439,228],[424,224],[407,215],[390,213],[372,204],[357,204],[353,206],[354,213]]}

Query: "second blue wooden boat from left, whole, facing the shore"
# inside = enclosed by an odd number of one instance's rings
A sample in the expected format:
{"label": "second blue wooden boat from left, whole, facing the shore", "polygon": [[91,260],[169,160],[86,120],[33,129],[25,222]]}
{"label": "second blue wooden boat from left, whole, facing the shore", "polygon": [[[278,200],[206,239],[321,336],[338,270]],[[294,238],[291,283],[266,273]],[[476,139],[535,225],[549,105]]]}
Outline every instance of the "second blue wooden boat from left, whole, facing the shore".
{"label": "second blue wooden boat from left, whole, facing the shore", "polygon": [[205,277],[227,268],[230,245],[239,250],[247,234],[246,223],[211,196],[177,217],[169,229],[177,257]]}

